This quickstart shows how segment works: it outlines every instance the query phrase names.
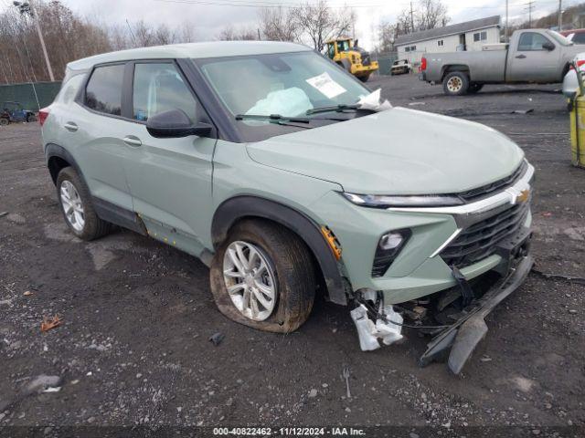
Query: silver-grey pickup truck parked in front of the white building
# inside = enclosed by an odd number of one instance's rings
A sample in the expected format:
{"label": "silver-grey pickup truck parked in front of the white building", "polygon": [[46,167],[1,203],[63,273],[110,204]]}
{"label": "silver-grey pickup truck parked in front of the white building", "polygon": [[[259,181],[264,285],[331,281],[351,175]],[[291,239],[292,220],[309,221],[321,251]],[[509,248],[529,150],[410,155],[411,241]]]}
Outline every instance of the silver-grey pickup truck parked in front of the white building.
{"label": "silver-grey pickup truck parked in front of the white building", "polygon": [[420,80],[442,84],[447,95],[476,93],[484,84],[562,82],[569,62],[582,46],[547,29],[516,30],[509,44],[490,44],[481,51],[428,53],[421,60]]}

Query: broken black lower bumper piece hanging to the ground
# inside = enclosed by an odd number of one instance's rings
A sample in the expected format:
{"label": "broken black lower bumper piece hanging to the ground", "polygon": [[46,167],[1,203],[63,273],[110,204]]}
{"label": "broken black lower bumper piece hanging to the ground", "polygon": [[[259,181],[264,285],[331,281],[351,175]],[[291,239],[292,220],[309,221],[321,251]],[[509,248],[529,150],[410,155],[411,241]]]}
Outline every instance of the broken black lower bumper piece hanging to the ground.
{"label": "broken black lower bumper piece hanging to the ground", "polygon": [[530,255],[523,257],[502,283],[488,290],[483,297],[474,300],[451,327],[441,330],[431,340],[428,349],[420,357],[420,366],[443,360],[451,350],[449,369],[454,374],[459,374],[477,344],[487,333],[484,318],[524,282],[533,265],[534,259]]}

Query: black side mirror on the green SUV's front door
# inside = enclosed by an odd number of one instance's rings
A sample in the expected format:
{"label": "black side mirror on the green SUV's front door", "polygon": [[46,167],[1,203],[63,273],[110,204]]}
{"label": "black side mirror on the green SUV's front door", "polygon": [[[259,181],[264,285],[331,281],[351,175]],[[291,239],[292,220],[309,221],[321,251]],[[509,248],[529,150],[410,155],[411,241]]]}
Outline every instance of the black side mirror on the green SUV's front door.
{"label": "black side mirror on the green SUV's front door", "polygon": [[146,120],[146,130],[156,139],[171,139],[197,135],[208,135],[212,126],[208,123],[193,122],[188,118],[184,110],[169,110],[155,114]]}

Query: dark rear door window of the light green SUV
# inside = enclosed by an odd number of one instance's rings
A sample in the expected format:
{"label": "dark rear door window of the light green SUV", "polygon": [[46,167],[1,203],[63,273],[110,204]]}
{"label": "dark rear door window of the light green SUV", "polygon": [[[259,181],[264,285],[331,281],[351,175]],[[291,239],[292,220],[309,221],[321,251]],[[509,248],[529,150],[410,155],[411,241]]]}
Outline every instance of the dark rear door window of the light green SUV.
{"label": "dark rear door window of the light green SUV", "polygon": [[85,89],[85,105],[104,114],[122,115],[123,78],[123,64],[93,70]]}

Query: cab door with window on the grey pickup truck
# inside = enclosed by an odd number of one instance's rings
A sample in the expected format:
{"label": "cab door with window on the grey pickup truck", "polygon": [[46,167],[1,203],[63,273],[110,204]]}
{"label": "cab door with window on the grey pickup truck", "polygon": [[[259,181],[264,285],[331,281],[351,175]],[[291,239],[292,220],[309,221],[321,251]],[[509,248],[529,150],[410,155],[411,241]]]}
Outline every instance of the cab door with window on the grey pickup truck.
{"label": "cab door with window on the grey pickup truck", "polygon": [[[552,44],[548,50],[543,45]],[[558,81],[558,63],[561,51],[554,41],[538,32],[522,32],[516,47],[510,47],[508,55],[507,80],[513,82],[555,82]]]}

